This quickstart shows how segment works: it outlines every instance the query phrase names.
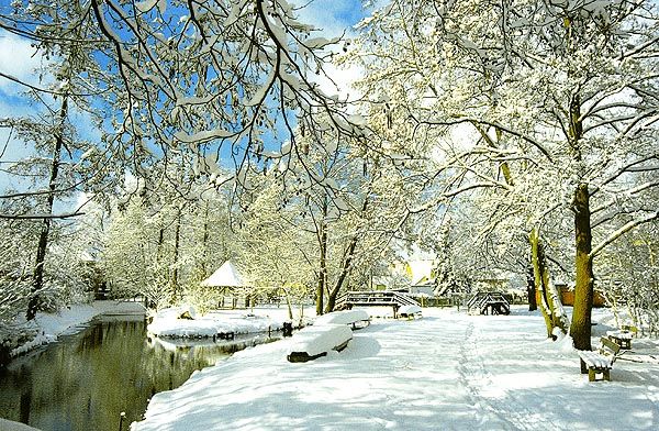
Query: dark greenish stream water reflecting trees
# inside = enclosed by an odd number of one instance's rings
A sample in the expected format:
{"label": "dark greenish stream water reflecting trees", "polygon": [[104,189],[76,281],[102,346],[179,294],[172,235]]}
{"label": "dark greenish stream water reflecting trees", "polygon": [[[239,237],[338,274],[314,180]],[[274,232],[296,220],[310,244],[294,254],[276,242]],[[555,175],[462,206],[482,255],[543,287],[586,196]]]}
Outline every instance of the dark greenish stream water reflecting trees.
{"label": "dark greenish stream water reflecting trees", "polygon": [[147,340],[142,318],[104,318],[82,332],[0,368],[0,417],[44,431],[119,430],[142,419],[150,397],[179,387],[194,369],[269,341],[169,345]]}

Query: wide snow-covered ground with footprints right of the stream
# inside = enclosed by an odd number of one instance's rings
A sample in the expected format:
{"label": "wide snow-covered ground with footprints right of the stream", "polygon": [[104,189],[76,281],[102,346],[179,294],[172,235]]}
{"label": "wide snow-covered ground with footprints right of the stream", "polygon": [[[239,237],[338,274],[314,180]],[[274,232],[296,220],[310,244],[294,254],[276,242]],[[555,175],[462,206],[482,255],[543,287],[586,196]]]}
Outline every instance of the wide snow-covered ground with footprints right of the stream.
{"label": "wide snow-covered ground with footprints right of the stream", "polygon": [[[537,313],[423,313],[373,320],[342,353],[308,363],[286,360],[291,339],[238,352],[154,396],[132,430],[659,429],[656,340],[634,340],[612,382],[589,383]],[[593,343],[611,329],[595,327]]]}

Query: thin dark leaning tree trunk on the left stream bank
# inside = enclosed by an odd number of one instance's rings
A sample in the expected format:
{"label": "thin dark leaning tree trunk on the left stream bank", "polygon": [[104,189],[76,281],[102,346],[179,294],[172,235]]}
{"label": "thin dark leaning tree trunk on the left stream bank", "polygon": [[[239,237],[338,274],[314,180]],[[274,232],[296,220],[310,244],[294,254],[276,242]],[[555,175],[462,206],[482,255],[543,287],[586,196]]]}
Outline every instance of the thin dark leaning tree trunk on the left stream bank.
{"label": "thin dark leaning tree trunk on the left stream bank", "polygon": [[[46,214],[53,213],[53,203],[55,201],[55,189],[57,187],[57,175],[59,174],[59,161],[62,147],[64,146],[64,123],[68,114],[68,96],[64,96],[59,109],[59,128],[55,133],[55,147],[53,148],[53,163],[51,164],[51,179],[48,181],[48,197],[46,200]],[[27,312],[25,318],[32,320],[36,317],[40,306],[40,292],[44,287],[44,263],[46,251],[48,248],[48,234],[51,233],[51,219],[44,218],[42,229],[38,235],[38,245],[36,248],[36,259],[34,263],[34,273],[32,277],[32,290],[27,301]]]}

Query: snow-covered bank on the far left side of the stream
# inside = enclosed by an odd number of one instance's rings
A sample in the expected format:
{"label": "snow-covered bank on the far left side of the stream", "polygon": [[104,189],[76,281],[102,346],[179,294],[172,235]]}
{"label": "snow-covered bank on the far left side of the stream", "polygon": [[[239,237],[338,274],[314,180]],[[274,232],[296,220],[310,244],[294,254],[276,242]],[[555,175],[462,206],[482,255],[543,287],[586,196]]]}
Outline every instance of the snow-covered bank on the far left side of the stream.
{"label": "snow-covered bank on the far left side of the stream", "polygon": [[38,312],[30,323],[18,321],[16,328],[25,325],[25,329],[35,332],[36,336],[11,351],[12,356],[25,353],[42,344],[57,341],[63,334],[77,332],[80,325],[90,321],[96,316],[103,313],[126,314],[143,313],[144,306],[133,301],[93,301],[92,303],[79,303],[69,306],[56,313]]}

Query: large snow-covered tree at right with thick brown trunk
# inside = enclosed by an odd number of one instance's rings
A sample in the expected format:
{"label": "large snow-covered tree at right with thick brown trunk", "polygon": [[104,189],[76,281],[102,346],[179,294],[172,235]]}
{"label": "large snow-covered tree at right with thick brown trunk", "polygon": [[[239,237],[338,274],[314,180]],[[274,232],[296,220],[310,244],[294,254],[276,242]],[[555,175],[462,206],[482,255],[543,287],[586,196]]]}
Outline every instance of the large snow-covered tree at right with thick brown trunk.
{"label": "large snow-covered tree at right with thick brown trunk", "polygon": [[656,184],[630,180],[657,173],[656,3],[394,0],[361,29],[362,92],[426,157],[439,148],[438,200],[499,190],[493,209],[527,232],[572,217],[570,332],[590,349],[593,258],[657,217],[639,199]]}

